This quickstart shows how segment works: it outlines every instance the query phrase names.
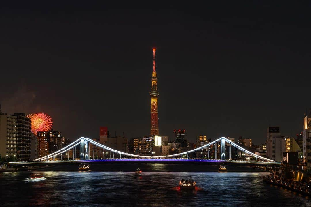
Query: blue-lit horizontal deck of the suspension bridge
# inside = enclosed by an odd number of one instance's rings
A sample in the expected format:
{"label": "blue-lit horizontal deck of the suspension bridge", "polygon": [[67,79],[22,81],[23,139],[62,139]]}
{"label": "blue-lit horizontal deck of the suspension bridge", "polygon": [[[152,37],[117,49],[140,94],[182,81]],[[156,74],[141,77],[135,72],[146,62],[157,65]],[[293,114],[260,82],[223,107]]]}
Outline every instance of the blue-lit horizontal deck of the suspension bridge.
{"label": "blue-lit horizontal deck of the suspension bridge", "polygon": [[113,163],[113,162],[140,162],[140,163],[201,163],[201,164],[229,164],[229,165],[268,165],[279,166],[280,162],[263,161],[238,161],[238,160],[202,160],[202,159],[101,159],[101,160],[57,160],[57,161],[31,161],[31,162],[9,162],[9,165],[49,165],[49,164],[81,164],[81,163]]}

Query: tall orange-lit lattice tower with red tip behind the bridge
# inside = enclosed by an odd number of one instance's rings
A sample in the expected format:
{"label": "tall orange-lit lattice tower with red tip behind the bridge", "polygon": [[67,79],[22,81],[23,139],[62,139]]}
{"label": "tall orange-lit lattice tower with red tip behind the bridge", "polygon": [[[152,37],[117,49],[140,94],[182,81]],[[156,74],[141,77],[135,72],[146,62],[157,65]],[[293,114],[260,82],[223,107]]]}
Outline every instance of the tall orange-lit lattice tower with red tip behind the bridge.
{"label": "tall orange-lit lattice tower with red tip behind the bridge", "polygon": [[151,125],[150,125],[150,134],[159,135],[159,124],[158,124],[158,96],[159,92],[156,88],[156,48],[152,49],[153,51],[153,71],[151,78]]}

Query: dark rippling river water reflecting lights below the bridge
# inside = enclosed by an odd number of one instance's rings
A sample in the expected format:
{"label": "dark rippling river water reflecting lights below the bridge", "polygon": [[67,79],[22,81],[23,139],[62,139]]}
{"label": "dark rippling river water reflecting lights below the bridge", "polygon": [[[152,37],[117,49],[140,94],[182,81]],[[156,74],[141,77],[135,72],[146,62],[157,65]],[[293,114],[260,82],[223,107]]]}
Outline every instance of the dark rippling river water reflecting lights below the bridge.
{"label": "dark rippling river water reflecting lights below the bridge", "polygon": [[[263,183],[267,172],[46,171],[46,180],[26,182],[31,173],[39,172],[0,173],[1,206],[311,206],[308,197]],[[180,191],[179,178],[189,175],[199,189]]]}

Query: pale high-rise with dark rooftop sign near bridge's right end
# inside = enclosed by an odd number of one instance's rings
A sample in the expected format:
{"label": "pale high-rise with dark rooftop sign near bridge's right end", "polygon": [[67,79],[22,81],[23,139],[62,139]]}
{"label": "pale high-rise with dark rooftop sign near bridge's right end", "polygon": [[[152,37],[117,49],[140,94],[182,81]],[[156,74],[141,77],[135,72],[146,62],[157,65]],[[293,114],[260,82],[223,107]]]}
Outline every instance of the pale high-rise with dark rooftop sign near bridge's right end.
{"label": "pale high-rise with dark rooftop sign near bridge's right end", "polygon": [[267,128],[267,157],[271,160],[281,162],[283,159],[283,136],[280,133],[280,127]]}

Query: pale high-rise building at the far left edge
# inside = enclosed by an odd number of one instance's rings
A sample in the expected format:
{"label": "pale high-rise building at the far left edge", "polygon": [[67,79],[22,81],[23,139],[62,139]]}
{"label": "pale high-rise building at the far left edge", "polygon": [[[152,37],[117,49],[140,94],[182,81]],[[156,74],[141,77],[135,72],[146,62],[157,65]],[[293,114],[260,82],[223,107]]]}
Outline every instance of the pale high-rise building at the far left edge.
{"label": "pale high-rise building at the far left edge", "polygon": [[0,109],[0,155],[14,159],[17,155],[17,118],[1,113]]}

